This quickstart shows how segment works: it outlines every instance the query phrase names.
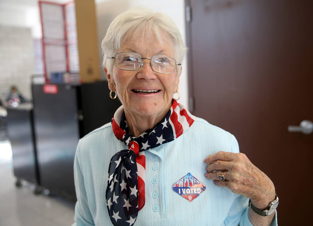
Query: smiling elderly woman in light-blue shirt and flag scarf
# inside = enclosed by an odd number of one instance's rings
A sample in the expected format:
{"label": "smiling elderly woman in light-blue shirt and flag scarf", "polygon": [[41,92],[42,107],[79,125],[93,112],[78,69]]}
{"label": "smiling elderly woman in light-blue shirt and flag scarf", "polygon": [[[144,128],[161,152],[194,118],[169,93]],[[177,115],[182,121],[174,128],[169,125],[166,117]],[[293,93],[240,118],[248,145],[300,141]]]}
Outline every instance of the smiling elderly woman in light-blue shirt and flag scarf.
{"label": "smiling elderly woman in light-blue shirt and flag scarf", "polygon": [[177,103],[186,47],[173,21],[122,13],[102,48],[122,106],[79,141],[74,225],[277,225],[269,177],[232,134]]}

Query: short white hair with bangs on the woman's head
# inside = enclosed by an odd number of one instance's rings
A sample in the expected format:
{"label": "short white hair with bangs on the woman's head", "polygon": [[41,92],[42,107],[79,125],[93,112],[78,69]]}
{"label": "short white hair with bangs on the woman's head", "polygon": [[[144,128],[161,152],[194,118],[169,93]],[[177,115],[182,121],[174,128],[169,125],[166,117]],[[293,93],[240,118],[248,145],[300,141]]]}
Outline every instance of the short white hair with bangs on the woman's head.
{"label": "short white hair with bangs on the woman's head", "polygon": [[[165,13],[153,13],[149,8],[135,8],[117,16],[110,24],[104,39],[102,40],[103,66],[108,74],[112,74],[114,60],[108,57],[115,56],[123,42],[134,34],[156,35],[159,43],[162,43],[164,34],[172,41],[174,58],[177,63],[182,63],[187,52],[182,35],[174,21]],[[133,37],[135,39],[136,37]],[[176,67],[177,75],[181,73],[181,66]]]}

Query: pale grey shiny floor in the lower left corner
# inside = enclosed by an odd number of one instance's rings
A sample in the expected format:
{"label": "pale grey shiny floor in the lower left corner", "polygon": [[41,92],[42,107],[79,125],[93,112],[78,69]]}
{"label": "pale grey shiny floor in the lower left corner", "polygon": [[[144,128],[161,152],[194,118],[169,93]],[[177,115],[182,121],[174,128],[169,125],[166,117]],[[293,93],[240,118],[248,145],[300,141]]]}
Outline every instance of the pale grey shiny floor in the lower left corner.
{"label": "pale grey shiny floor in the lower left corner", "polygon": [[74,203],[59,196],[35,195],[34,185],[15,187],[9,141],[0,141],[0,225],[68,226],[74,223]]}

